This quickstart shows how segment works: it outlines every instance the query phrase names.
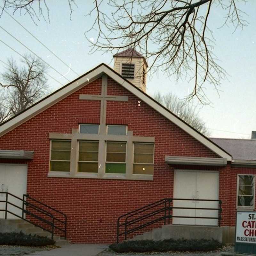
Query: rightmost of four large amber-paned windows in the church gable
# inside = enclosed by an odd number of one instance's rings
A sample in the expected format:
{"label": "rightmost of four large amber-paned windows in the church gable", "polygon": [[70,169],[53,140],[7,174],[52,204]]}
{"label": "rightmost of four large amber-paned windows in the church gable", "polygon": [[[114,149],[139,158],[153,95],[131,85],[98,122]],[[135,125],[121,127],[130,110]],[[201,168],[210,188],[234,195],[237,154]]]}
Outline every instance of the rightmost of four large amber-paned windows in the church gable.
{"label": "rightmost of four large amber-paned windows in the church gable", "polygon": [[133,174],[154,173],[154,144],[133,143]]}

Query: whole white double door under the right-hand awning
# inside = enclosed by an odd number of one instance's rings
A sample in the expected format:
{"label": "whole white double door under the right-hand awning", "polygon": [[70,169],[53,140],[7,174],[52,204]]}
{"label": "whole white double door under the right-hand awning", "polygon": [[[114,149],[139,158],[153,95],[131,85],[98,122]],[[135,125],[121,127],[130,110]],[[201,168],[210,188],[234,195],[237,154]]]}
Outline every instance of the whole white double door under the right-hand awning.
{"label": "whole white double door under the right-hand awning", "polygon": [[[201,171],[175,171],[173,198],[180,199],[219,199],[219,173]],[[173,209],[173,216],[190,218],[173,218],[173,224],[217,226],[217,219],[200,219],[194,217],[218,217],[218,210],[200,208],[218,208],[218,202],[173,200],[173,207],[195,209]]]}

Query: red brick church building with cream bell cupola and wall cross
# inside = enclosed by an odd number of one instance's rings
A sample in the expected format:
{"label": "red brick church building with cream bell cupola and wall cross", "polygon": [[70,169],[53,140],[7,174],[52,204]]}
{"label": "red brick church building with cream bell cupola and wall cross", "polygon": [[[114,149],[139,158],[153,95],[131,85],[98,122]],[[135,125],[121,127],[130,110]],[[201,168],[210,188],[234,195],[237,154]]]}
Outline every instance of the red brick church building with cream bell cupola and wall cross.
{"label": "red brick church building with cream bell cupola and wall cross", "polygon": [[[171,223],[232,234],[237,209],[255,209],[256,140],[205,137],[146,94],[140,53],[114,60],[114,69],[102,63],[0,125],[1,191],[65,213],[75,243],[115,242],[119,216],[164,198],[191,199],[173,203],[188,208],[173,216],[189,218]],[[218,200],[221,222],[217,210],[196,210]],[[7,218],[22,217],[8,207],[16,215]]]}

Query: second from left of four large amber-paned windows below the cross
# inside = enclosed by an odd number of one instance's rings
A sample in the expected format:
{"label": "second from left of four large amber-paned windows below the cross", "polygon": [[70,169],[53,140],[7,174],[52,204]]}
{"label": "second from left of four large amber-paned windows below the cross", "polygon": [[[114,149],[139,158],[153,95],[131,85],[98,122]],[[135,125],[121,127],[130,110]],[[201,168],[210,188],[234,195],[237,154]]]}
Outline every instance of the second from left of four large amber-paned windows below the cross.
{"label": "second from left of four large amber-paned windows below the cross", "polygon": [[99,141],[79,141],[78,172],[98,172]]}

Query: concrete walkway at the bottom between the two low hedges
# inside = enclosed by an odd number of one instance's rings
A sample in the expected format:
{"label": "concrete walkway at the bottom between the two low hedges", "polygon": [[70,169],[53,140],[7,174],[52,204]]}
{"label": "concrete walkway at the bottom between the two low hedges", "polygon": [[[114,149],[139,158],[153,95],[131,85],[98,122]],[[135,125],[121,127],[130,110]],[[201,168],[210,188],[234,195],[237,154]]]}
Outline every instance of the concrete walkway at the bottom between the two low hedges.
{"label": "concrete walkway at the bottom between the two low hedges", "polygon": [[27,256],[94,256],[107,248],[106,244],[67,244],[61,248],[33,252]]}

